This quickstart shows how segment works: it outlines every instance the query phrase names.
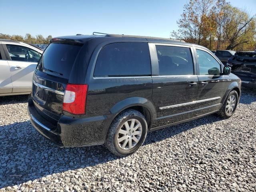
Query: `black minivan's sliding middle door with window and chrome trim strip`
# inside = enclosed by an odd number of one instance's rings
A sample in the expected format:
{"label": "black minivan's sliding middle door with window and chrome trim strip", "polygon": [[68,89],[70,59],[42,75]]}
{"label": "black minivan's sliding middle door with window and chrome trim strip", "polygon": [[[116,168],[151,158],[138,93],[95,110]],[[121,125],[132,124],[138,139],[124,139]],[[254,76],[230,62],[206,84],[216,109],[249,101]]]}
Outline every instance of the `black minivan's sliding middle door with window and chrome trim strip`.
{"label": "black minivan's sliding middle door with window and chrome trim strip", "polygon": [[158,112],[153,126],[157,128],[193,118],[198,92],[193,49],[176,44],[150,43],[149,46],[152,100]]}

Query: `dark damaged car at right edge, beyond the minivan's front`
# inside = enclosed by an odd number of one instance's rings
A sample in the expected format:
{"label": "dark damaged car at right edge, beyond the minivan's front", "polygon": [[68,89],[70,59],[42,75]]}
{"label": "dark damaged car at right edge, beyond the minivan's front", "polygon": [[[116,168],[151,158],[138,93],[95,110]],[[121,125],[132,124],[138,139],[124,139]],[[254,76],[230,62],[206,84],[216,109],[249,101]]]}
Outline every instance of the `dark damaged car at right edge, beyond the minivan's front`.
{"label": "dark damaged car at right edge, beyond the minivan's front", "polygon": [[242,80],[242,86],[256,88],[256,50],[236,52],[227,64]]}

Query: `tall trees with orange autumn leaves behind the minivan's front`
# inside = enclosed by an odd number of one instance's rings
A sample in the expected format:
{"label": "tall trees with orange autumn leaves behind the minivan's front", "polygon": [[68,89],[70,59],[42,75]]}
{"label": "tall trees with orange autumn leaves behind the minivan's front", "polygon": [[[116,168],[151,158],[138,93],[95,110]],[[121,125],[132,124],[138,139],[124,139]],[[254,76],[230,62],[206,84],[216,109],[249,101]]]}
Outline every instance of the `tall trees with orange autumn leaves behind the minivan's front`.
{"label": "tall trees with orange autumn leaves behind the minivan's front", "polygon": [[199,44],[210,50],[254,50],[256,18],[225,0],[190,0],[170,38]]}

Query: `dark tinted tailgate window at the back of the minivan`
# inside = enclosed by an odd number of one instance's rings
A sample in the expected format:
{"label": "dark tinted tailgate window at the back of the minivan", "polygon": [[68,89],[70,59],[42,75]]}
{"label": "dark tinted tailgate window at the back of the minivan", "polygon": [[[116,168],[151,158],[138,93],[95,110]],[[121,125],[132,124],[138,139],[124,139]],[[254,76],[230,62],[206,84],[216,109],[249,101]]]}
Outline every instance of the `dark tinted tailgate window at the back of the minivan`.
{"label": "dark tinted tailgate window at the back of the minivan", "polygon": [[38,63],[38,70],[68,79],[80,48],[80,45],[51,43]]}

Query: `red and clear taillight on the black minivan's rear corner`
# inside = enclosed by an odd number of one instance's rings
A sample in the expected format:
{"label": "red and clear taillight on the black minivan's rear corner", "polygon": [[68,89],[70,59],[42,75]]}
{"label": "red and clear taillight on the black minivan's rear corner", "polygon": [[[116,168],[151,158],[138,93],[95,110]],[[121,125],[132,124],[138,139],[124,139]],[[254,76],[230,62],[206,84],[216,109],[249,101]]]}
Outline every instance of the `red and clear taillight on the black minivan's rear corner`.
{"label": "red and clear taillight on the black minivan's rear corner", "polygon": [[87,84],[67,84],[62,110],[75,115],[85,114]]}

